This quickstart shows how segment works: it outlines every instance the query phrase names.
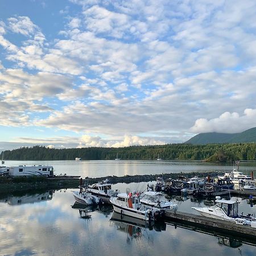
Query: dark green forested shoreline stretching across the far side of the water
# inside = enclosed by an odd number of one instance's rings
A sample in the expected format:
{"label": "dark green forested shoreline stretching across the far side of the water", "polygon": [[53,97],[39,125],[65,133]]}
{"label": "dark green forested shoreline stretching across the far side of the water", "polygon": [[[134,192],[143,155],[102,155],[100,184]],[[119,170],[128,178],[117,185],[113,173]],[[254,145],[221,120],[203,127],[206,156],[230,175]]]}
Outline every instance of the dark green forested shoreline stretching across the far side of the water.
{"label": "dark green forested shoreline stretching across the far side of the water", "polygon": [[232,144],[166,144],[158,146],[131,146],[120,148],[47,148],[44,146],[21,147],[4,151],[5,160],[148,160],[158,156],[163,160],[206,160],[230,162],[256,160],[256,143]]}

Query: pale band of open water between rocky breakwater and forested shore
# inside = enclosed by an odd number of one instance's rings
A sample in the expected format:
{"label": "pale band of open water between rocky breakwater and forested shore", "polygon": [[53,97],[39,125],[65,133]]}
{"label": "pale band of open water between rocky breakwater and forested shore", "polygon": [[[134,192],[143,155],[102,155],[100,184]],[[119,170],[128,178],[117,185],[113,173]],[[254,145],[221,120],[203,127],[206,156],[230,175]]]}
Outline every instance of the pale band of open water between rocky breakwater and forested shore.
{"label": "pale band of open water between rocky breakwater and forested shore", "polygon": [[[6,161],[6,166],[49,164],[55,174],[80,175],[81,177],[103,177],[143,174],[167,174],[173,172],[232,171],[232,165],[217,165],[199,161],[157,160],[81,160],[81,161]],[[256,162],[241,163],[245,174],[255,171]]]}

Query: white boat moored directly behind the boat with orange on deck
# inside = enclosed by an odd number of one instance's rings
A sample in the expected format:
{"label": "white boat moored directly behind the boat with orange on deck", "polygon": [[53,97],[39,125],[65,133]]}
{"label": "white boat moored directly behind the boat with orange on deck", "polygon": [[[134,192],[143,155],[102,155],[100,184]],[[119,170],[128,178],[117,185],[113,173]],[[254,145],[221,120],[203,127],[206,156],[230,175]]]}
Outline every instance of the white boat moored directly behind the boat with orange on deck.
{"label": "white boat moored directly behind the boat with orange on deck", "polygon": [[147,191],[141,195],[141,204],[160,209],[177,209],[177,205],[165,200],[161,192]]}

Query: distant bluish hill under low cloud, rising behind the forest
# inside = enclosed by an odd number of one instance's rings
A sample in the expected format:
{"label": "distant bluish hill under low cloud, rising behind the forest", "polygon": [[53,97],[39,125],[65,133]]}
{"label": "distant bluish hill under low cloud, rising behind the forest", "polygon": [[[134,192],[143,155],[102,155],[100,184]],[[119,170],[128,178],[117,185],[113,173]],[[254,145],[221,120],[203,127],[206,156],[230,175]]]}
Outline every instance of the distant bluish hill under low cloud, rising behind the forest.
{"label": "distant bluish hill under low cloud, rising behind the forest", "polygon": [[200,133],[189,139],[186,144],[216,144],[216,143],[250,143],[256,142],[256,127],[242,133]]}

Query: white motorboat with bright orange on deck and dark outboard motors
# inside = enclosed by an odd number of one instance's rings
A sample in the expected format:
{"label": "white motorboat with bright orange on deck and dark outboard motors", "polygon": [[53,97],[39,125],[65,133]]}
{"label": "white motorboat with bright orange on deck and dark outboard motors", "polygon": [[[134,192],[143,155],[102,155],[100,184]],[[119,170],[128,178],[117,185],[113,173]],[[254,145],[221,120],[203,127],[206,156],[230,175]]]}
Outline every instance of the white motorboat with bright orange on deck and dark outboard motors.
{"label": "white motorboat with bright orange on deck and dark outboard motors", "polygon": [[114,212],[145,221],[159,220],[165,212],[163,209],[142,205],[141,196],[137,192],[119,193],[117,197],[110,198],[110,203],[113,205]]}

